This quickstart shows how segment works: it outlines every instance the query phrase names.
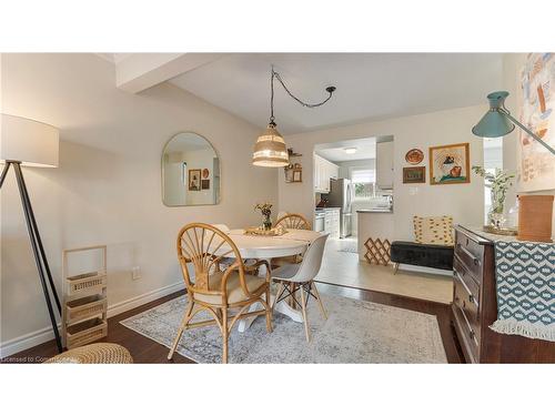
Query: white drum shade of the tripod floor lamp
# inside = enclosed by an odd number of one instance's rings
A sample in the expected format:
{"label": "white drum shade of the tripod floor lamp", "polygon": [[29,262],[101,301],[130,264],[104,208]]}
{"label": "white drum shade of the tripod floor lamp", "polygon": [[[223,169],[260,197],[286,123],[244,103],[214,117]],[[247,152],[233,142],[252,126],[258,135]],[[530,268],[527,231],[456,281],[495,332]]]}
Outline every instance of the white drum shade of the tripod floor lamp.
{"label": "white drum shade of the tripod floor lamp", "polygon": [[60,145],[58,129],[34,120],[0,114],[0,163],[57,168]]}

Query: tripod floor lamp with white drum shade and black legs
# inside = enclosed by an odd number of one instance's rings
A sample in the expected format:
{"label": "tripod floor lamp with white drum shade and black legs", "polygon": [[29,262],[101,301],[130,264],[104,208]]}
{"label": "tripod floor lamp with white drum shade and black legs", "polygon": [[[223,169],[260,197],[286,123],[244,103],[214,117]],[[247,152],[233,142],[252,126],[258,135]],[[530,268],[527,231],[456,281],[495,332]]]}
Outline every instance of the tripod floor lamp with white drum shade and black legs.
{"label": "tripod floor lamp with white drum shade and black legs", "polygon": [[54,298],[59,314],[61,313],[60,298],[56,292],[54,282],[50,273],[47,255],[39,234],[39,227],[37,226],[31,206],[31,200],[29,199],[26,181],[23,179],[23,172],[21,171],[21,166],[58,166],[59,132],[58,129],[38,121],[8,114],[0,114],[0,164],[3,164],[2,174],[0,176],[0,189],[3,185],[8,171],[10,168],[13,168],[18,182],[19,195],[21,196],[21,204],[23,205],[23,213],[34,262],[37,263],[42,292],[47,301],[48,313],[50,315],[50,322],[52,323],[58,351],[61,353],[62,342],[60,332],[58,331],[54,306],[52,305],[50,293]]}

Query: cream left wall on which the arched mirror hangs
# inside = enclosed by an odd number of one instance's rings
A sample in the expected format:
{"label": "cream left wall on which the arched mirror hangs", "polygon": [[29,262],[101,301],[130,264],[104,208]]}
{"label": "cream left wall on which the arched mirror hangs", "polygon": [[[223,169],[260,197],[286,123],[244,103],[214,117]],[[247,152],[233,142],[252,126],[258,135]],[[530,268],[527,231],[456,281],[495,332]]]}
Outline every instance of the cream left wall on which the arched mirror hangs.
{"label": "cream left wall on which the arched mirror hangs", "polygon": [[[174,252],[191,221],[256,224],[276,202],[276,171],[251,165],[259,129],[161,84],[133,95],[93,54],[3,54],[2,111],[61,130],[60,168],[24,174],[58,288],[64,247],[108,244],[109,304],[181,282]],[[178,132],[208,138],[221,156],[219,205],[167,207],[161,152]],[[1,341],[49,326],[13,172],[1,190]],[[140,266],[142,278],[131,280]],[[9,344],[9,343],[8,343]]]}

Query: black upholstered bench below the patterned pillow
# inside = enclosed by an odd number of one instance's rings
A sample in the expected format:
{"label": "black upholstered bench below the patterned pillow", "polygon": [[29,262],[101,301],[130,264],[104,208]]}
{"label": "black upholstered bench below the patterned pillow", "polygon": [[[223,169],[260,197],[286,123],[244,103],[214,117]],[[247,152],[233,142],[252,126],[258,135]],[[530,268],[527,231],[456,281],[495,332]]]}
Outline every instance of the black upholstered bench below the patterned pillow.
{"label": "black upholstered bench below the patterned pillow", "polygon": [[453,246],[394,241],[391,261],[397,273],[400,263],[441,270],[453,270]]}

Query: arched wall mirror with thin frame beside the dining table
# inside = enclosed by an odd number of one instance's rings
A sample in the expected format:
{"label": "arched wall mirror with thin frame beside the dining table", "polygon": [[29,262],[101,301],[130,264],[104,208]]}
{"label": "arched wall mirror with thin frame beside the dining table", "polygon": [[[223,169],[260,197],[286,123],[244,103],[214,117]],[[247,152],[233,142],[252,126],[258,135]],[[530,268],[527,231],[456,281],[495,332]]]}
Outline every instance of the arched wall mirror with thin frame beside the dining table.
{"label": "arched wall mirror with thin frame beside the dining table", "polygon": [[162,201],[168,206],[220,202],[220,159],[196,133],[175,134],[162,152]]}

